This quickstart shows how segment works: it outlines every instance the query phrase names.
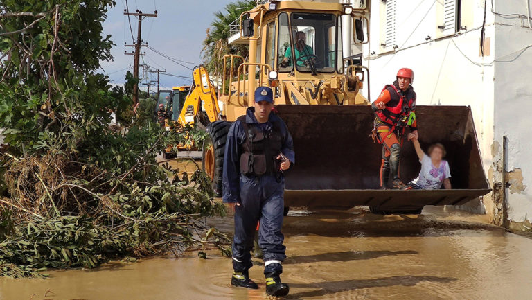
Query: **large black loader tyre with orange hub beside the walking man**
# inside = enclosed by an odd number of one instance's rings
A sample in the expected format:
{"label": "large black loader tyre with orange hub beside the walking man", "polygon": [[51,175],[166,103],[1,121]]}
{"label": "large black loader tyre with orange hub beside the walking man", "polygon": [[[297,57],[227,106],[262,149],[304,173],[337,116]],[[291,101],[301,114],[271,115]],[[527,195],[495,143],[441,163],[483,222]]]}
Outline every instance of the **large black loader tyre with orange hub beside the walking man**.
{"label": "large black loader tyre with orange hub beside the walking man", "polygon": [[230,126],[231,122],[228,121],[216,121],[207,125],[208,135],[203,144],[203,170],[211,178],[211,186],[217,197],[222,196],[225,142]]}

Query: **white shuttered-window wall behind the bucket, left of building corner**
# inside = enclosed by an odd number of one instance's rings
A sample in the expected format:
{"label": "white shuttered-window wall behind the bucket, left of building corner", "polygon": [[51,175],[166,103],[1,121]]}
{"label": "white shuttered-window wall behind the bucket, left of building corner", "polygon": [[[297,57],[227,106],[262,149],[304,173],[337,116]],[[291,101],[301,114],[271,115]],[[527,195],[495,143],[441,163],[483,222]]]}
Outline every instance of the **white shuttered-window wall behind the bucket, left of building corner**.
{"label": "white shuttered-window wall behind the bucket, left of building corner", "polygon": [[[480,55],[481,28],[484,21],[484,1],[462,0],[463,26],[459,33],[443,35],[444,1],[396,0],[396,50],[385,49],[383,42],[385,17],[382,1],[371,3],[371,42],[364,47],[364,64],[371,70],[371,100],[375,100],[384,85],[395,80],[401,67],[414,69],[414,89],[418,105],[469,105],[484,159],[486,173],[492,166],[494,139],[494,60],[495,24],[486,8],[486,55]],[[429,41],[425,40],[431,37]],[[369,53],[369,55],[368,55]],[[367,94],[367,91],[364,91]],[[420,128],[420,130],[430,130]],[[485,202],[486,211],[493,211],[491,197]],[[489,201],[488,201],[489,200]],[[483,207],[473,205],[477,211]]]}

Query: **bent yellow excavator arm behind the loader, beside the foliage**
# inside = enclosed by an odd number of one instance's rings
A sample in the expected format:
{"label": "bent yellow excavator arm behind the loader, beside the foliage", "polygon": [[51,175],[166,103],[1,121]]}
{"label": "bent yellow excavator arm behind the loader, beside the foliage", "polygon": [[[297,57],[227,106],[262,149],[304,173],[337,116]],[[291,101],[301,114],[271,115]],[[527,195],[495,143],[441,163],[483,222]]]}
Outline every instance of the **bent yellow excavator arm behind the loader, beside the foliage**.
{"label": "bent yellow excavator arm behind the loader, beside the foliage", "polygon": [[220,120],[216,90],[209,80],[207,70],[203,66],[196,67],[193,71],[193,80],[193,85],[179,114],[179,124],[181,126],[194,125],[196,116],[202,109],[202,101],[209,121],[212,123]]}

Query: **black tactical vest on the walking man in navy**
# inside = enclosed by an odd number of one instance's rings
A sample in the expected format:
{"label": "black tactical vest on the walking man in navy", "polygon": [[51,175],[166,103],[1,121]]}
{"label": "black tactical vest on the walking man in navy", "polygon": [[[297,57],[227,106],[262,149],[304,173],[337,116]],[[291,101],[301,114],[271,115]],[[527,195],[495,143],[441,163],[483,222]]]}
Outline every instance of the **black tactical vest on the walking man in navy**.
{"label": "black tactical vest on the walking man in navy", "polygon": [[256,124],[247,124],[246,116],[237,119],[242,123],[246,139],[242,143],[240,173],[245,175],[276,175],[280,172],[281,161],[276,159],[283,145],[278,124],[272,123],[272,130],[263,132]]}

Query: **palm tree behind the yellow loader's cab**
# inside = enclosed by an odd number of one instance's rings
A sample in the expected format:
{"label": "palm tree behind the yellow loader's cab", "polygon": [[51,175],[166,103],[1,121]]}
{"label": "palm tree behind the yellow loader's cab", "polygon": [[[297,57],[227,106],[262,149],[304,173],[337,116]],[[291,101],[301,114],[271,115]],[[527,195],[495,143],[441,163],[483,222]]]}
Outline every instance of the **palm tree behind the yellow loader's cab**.
{"label": "palm tree behind the yellow loader's cab", "polygon": [[[248,46],[229,45],[229,24],[240,18],[240,14],[256,6],[256,1],[237,0],[227,4],[224,11],[215,12],[214,21],[207,29],[204,39],[203,60],[211,76],[221,76],[223,72],[224,55],[233,54],[247,58]],[[229,65],[227,66],[229,67]]]}

